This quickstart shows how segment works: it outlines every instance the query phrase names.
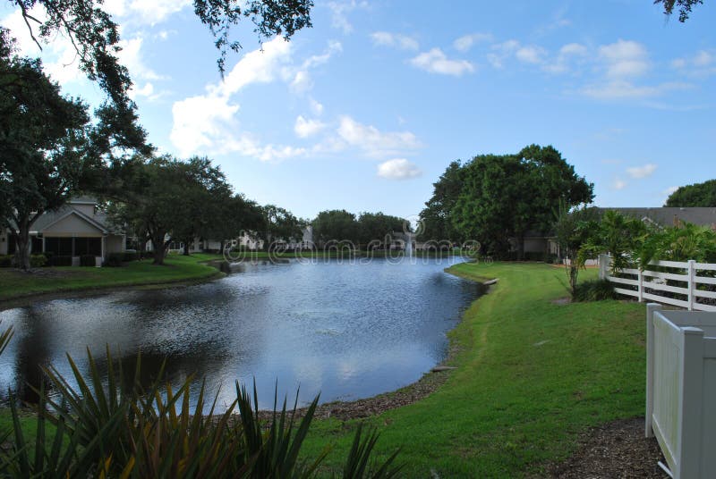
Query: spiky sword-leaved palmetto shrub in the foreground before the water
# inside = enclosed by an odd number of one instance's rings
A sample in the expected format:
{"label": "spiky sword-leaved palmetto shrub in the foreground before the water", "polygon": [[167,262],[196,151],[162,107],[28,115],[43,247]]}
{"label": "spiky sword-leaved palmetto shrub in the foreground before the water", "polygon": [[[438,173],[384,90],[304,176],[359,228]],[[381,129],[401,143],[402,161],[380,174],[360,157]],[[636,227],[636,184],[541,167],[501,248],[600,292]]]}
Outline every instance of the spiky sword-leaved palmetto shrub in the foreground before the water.
{"label": "spiky sword-leaved palmetto shrub in the foreground before the water", "polygon": [[[7,334],[12,334],[8,332]],[[0,337],[0,344],[3,338]],[[107,349],[107,381],[88,352],[90,370],[81,371],[68,357],[78,387],[73,389],[55,367],[44,368],[53,394],[39,387],[35,443],[26,442],[15,400],[11,395],[14,441],[0,449],[0,475],[16,477],[314,477],[318,458],[300,459],[319,398],[303,417],[294,410],[277,409],[265,422],[260,419],[256,387],[251,395],[236,385],[236,399],[223,415],[214,416],[217,399],[204,415],[202,384],[195,408],[190,407],[192,377],[177,390],[164,382],[164,368],[149,389],[139,385],[141,359],[137,360],[134,387],[123,387],[121,362]],[[238,418],[236,411],[241,412]],[[49,439],[46,422],[55,425]],[[382,464],[370,460],[378,435],[355,434],[345,461],[345,478],[389,478],[400,466],[397,451]],[[34,452],[34,460],[30,453]]]}

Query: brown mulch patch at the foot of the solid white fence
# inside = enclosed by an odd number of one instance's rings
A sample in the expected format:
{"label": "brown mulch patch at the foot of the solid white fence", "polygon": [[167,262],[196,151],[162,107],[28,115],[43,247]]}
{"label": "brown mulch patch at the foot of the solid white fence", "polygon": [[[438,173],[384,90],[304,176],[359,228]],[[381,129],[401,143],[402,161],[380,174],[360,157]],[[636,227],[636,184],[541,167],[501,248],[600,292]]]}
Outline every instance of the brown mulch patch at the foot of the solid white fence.
{"label": "brown mulch patch at the foot of the solid white fence", "polygon": [[659,461],[666,462],[659,443],[644,437],[644,417],[637,417],[592,428],[579,439],[579,449],[571,458],[548,466],[546,473],[563,479],[668,478]]}

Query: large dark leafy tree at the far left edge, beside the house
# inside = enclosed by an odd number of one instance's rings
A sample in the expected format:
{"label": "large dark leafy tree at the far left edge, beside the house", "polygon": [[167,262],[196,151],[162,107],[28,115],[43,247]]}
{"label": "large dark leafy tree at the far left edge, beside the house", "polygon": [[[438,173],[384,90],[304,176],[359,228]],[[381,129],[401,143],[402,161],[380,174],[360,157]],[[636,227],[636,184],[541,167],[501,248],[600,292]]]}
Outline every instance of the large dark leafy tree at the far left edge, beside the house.
{"label": "large dark leafy tree at the far left edge, beside the house", "polygon": [[0,32],[0,204],[7,214],[0,221],[17,235],[17,265],[28,270],[30,227],[77,194],[98,157],[88,147],[87,106],[60,95],[38,60],[12,51]]}

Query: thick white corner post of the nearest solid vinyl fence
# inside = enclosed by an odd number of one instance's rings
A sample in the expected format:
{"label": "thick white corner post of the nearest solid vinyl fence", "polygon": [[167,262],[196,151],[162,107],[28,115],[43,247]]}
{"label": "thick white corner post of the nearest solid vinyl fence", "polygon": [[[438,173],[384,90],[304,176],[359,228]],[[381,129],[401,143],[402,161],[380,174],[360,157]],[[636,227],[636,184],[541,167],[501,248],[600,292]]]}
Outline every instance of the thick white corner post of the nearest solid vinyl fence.
{"label": "thick white corner post of the nearest solid vinyl fence", "polygon": [[681,333],[679,371],[678,471],[674,477],[699,477],[703,439],[703,330],[686,327]]}

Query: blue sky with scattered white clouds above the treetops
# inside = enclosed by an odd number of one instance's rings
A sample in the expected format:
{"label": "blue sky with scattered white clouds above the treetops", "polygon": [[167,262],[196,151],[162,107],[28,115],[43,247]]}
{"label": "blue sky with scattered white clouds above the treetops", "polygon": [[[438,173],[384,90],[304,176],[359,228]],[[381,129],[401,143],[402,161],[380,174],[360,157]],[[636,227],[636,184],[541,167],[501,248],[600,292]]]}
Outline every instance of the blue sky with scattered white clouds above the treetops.
{"label": "blue sky with scattered white clouds above the treetops", "polygon": [[[447,164],[553,145],[599,206],[661,206],[716,176],[716,8],[651,0],[316,0],[313,28],[217,71],[186,0],[106,0],[141,123],[160,152],[208,155],[237,191],[302,217],[418,214]],[[41,13],[38,13],[41,14]],[[0,22],[38,55],[17,12]],[[98,102],[64,38],[46,69]]]}

